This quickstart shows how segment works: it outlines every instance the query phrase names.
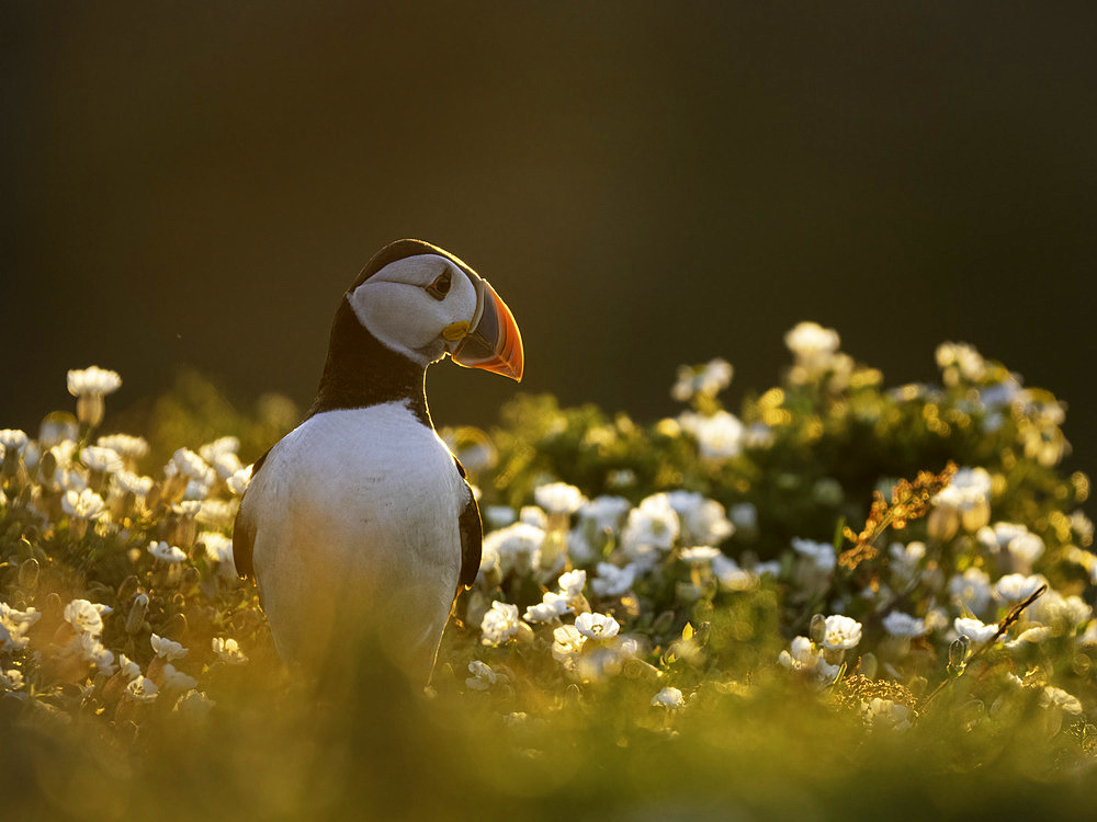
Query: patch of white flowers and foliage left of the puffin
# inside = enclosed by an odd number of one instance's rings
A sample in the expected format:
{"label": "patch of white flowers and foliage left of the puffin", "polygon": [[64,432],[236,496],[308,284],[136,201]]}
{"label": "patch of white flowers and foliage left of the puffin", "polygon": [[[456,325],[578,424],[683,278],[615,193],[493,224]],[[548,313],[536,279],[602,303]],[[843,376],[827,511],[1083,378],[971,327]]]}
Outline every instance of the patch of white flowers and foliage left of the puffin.
{"label": "patch of white flowers and foliage left of the puffin", "polygon": [[200,677],[247,661],[236,637],[255,643],[263,628],[229,536],[249,467],[222,437],[145,473],[147,439],[98,431],[121,385],[95,366],[69,372],[75,415],[48,414],[36,436],[0,432],[11,569],[0,578],[0,690],[115,720],[162,700],[201,712],[213,700]]}

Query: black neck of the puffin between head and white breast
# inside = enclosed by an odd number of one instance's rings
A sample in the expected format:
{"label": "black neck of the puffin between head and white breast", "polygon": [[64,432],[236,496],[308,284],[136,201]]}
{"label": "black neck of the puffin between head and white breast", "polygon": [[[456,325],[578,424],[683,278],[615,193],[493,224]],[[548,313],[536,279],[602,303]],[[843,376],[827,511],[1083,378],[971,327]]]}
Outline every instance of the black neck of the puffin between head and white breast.
{"label": "black neck of the puffin between head and white breast", "polygon": [[346,295],[331,323],[328,358],[305,415],[382,402],[405,402],[423,425],[431,425],[425,388],[427,369],[382,344],[358,321]]}

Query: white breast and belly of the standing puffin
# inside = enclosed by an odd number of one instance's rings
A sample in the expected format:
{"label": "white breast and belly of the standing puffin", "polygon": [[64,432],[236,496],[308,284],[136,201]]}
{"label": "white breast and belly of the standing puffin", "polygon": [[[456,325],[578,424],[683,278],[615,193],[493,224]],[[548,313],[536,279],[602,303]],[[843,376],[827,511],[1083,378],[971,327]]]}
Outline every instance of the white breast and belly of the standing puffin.
{"label": "white breast and belly of the standing puffin", "polygon": [[432,663],[466,500],[452,455],[404,403],[327,411],[287,434],[244,501],[283,658],[317,661],[366,638]]}

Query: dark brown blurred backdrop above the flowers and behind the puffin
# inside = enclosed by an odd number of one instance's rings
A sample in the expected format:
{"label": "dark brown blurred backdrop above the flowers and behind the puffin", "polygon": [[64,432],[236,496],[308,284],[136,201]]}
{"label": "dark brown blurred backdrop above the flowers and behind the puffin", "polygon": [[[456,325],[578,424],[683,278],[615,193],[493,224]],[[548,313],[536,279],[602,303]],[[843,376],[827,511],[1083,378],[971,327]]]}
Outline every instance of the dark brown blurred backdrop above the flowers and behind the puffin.
{"label": "dark brown blurred backdrop above the flowers and behind the puffin", "polygon": [[[1093,469],[1094,4],[9,2],[0,422],[65,370],[306,403],[346,286],[429,239],[523,388],[641,419],[678,363],[772,385],[836,327],[891,385],[962,340],[1071,404]],[[439,423],[513,384],[432,370]]]}

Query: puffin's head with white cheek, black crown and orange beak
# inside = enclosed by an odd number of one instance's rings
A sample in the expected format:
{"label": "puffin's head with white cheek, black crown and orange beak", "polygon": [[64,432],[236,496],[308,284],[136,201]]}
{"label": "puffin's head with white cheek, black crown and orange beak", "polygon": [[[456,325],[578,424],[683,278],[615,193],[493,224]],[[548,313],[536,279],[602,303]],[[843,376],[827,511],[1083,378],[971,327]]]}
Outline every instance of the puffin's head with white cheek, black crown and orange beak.
{"label": "puffin's head with white cheek, black crown and orange beak", "polygon": [[377,341],[419,365],[449,355],[467,368],[522,379],[522,336],[507,304],[465,263],[430,243],[386,246],[347,301]]}

